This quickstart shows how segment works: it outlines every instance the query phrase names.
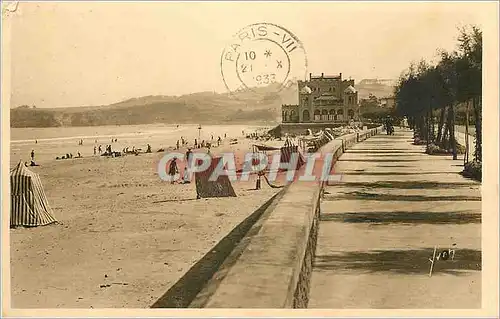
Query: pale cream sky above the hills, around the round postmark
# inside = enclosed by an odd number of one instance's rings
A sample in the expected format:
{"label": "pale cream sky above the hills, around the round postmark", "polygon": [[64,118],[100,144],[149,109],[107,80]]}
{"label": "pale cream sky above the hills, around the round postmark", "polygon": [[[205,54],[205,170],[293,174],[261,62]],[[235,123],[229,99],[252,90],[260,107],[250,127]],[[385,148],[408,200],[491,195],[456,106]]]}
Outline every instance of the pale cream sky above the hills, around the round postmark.
{"label": "pale cream sky above the hills, around the round postmark", "polygon": [[487,14],[477,2],[20,3],[9,17],[11,107],[225,92],[222,50],[258,22],[295,34],[308,72],[396,79],[455,49],[457,28]]}

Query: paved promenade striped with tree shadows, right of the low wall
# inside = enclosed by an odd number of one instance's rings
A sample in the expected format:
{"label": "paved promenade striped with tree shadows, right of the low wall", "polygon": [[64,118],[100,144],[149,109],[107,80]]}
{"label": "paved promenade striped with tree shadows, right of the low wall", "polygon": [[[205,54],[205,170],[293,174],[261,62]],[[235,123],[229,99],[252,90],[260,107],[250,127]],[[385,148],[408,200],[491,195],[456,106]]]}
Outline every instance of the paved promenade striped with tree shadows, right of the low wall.
{"label": "paved promenade striped with tree shadows, right of the low wall", "polygon": [[[412,133],[377,135],[336,165],[321,203],[309,308],[480,308],[480,184]],[[455,246],[453,246],[455,244]],[[454,260],[429,258],[455,248]]]}

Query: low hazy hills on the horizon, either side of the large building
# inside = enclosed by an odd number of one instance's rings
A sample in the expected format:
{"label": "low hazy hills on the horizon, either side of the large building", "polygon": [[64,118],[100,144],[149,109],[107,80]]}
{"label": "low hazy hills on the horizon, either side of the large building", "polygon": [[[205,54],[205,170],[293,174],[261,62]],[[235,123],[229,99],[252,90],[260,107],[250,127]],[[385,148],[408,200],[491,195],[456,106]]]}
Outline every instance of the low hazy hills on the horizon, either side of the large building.
{"label": "low hazy hills on the horizon, either side of the large building", "polygon": [[[362,80],[356,85],[360,98],[392,94],[384,82]],[[10,110],[11,127],[67,127],[137,124],[266,124],[281,120],[281,105],[298,103],[294,85],[253,88],[235,94],[198,92],[182,96],[143,96],[102,106],[30,108]]]}

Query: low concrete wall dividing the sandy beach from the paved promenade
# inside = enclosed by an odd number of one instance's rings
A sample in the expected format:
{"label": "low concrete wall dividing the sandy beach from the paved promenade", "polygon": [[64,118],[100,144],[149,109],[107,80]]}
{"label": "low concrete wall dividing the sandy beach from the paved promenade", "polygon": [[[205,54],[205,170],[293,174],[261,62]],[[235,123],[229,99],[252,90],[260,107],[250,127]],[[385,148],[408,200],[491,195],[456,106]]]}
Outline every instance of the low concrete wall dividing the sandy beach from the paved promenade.
{"label": "low concrete wall dividing the sandy beach from the paved promenade", "polygon": [[[336,161],[381,128],[353,133],[324,145]],[[292,183],[260,230],[217,282],[206,308],[306,308],[316,250],[324,182]]]}

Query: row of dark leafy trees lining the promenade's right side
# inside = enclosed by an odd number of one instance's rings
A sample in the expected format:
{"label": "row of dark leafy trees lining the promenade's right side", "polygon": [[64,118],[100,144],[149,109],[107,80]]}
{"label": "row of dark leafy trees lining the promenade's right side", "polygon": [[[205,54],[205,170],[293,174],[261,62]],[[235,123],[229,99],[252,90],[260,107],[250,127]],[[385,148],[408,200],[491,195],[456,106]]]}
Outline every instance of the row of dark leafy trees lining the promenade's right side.
{"label": "row of dark leafy trees lining the promenade's right side", "polygon": [[[481,162],[482,32],[469,26],[459,33],[456,51],[441,51],[436,65],[424,60],[412,63],[401,75],[395,91],[396,111],[408,117],[416,137],[427,145],[452,150],[456,156],[456,110],[465,106],[474,118],[474,161]],[[468,125],[470,119],[464,122]]]}

